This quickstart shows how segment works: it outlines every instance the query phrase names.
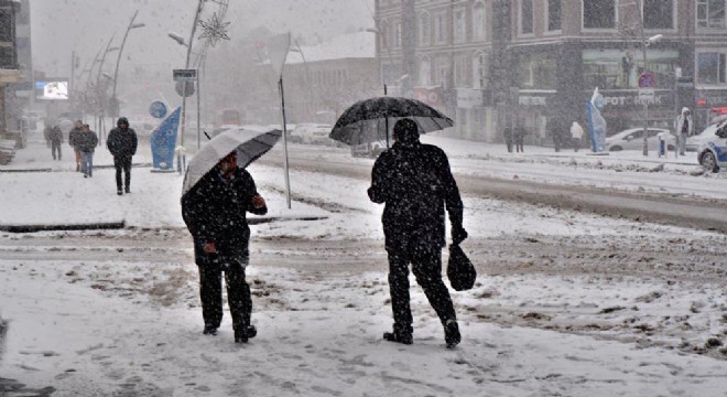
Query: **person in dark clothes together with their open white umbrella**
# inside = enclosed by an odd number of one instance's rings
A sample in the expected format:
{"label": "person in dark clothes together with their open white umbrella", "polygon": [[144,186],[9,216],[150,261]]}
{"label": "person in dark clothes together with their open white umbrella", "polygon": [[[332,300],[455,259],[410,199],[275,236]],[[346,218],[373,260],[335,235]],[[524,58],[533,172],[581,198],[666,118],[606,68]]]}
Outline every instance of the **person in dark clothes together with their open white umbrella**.
{"label": "person in dark clothes together with their open white umbrella", "polygon": [[194,240],[205,335],[216,335],[223,321],[223,273],[235,342],[247,343],[258,333],[250,323],[252,300],[245,275],[250,261],[247,213],[264,215],[268,206],[245,167],[280,136],[280,130],[229,130],[207,142],[189,162],[182,217]]}

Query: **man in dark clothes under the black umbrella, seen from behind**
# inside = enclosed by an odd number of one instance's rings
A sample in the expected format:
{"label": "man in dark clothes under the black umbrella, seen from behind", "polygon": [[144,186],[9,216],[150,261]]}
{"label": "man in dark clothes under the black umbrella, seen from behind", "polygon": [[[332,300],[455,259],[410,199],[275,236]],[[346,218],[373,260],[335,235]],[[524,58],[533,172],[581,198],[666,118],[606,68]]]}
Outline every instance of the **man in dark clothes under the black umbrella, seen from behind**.
{"label": "man in dark clothes under the black umbrella, seen from behind", "polygon": [[442,247],[445,246],[444,211],[449,214],[454,244],[467,238],[462,225],[463,205],[449,161],[442,149],[419,141],[416,122],[397,121],[395,143],[379,155],[371,171],[369,197],[383,203],[382,223],[389,255],[389,289],[393,331],[383,339],[411,344],[412,313],[409,265],[444,326],[447,347],[460,341],[449,291],[442,280]]}

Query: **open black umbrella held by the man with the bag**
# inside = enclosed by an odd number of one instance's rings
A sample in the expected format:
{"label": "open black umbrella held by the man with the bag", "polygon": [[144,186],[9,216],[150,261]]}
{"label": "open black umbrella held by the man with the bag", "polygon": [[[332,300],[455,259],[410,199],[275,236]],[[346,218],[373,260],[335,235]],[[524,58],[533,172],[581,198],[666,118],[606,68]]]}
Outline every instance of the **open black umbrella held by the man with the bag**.
{"label": "open black umbrella held by the man with the bag", "polygon": [[350,146],[386,139],[388,146],[390,133],[386,131],[402,118],[414,120],[421,133],[454,126],[451,118],[420,100],[386,96],[351,105],[338,118],[328,137]]}

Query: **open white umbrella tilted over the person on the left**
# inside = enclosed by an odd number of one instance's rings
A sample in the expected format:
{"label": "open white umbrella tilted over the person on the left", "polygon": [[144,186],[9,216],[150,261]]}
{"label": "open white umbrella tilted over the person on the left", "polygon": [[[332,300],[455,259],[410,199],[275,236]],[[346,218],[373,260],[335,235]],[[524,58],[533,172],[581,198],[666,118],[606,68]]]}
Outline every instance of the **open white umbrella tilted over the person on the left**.
{"label": "open white umbrella tilted over the person on the left", "polygon": [[237,167],[246,168],[267,153],[281,135],[279,129],[262,126],[245,126],[219,133],[205,143],[189,161],[184,174],[182,195],[187,194],[227,154],[237,151]]}

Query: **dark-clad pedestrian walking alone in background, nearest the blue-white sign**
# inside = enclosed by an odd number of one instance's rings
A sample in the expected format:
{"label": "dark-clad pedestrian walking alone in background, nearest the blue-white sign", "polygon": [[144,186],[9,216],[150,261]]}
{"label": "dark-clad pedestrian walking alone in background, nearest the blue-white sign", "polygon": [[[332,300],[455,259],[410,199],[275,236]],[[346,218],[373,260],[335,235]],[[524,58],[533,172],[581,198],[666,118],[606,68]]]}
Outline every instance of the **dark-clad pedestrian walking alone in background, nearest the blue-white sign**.
{"label": "dark-clad pedestrian walking alone in background, nearest the blue-white sign", "polygon": [[[131,193],[131,158],[137,154],[137,131],[129,127],[129,119],[119,117],[116,128],[109,132],[106,146],[113,155],[116,168],[116,190],[118,195]],[[124,179],[121,183],[121,172]],[[123,187],[123,190],[121,190]]]}

